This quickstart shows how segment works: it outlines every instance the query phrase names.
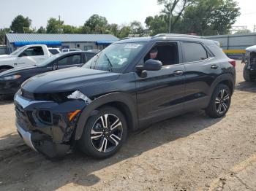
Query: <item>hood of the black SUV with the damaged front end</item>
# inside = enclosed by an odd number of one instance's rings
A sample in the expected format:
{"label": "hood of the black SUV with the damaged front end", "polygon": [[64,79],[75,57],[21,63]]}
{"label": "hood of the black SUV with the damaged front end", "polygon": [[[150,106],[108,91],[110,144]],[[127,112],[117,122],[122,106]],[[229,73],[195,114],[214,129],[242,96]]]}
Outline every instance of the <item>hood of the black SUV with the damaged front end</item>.
{"label": "hood of the black SUV with the damaged front end", "polygon": [[115,80],[120,74],[72,67],[50,71],[31,77],[23,83],[22,89],[30,93],[57,93],[78,90],[80,87]]}

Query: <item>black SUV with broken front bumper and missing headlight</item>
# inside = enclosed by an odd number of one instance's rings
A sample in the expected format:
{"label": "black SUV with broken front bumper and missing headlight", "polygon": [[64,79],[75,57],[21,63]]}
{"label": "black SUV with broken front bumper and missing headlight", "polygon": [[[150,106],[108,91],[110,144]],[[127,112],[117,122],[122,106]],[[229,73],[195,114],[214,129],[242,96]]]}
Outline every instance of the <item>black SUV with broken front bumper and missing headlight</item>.
{"label": "black SUV with broken front bumper and missing headlight", "polygon": [[124,39],[82,67],[39,74],[15,95],[18,133],[48,157],[75,145],[91,157],[120,149],[127,133],[205,109],[230,107],[236,61],[218,43],[178,34]]}

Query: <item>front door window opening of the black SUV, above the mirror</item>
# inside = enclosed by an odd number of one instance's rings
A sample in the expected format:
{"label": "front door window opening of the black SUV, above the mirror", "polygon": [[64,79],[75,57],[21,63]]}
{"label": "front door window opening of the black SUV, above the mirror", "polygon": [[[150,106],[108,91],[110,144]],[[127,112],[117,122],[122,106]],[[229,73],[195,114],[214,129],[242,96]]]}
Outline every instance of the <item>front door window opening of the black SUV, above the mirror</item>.
{"label": "front door window opening of the black SUV, above the mirror", "polygon": [[161,61],[162,66],[177,64],[179,63],[178,44],[176,42],[157,44],[148,52],[144,58],[144,63],[148,61],[148,59]]}

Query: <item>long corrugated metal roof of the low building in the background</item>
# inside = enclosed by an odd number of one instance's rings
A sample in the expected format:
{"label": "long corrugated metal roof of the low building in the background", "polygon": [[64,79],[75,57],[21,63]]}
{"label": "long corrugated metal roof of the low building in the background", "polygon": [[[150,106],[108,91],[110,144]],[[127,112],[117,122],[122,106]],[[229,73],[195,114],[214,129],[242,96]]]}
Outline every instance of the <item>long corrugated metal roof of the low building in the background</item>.
{"label": "long corrugated metal roof of the low building in the background", "polygon": [[6,34],[10,43],[13,42],[115,42],[116,36],[111,34]]}

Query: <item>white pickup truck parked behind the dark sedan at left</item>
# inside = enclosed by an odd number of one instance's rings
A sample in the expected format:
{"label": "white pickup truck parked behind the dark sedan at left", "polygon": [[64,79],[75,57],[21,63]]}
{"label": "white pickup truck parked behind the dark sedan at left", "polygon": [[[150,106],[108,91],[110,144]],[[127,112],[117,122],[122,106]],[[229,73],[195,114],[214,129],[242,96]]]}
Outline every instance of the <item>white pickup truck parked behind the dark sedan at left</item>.
{"label": "white pickup truck parked behind the dark sedan at left", "polygon": [[0,55],[0,73],[20,66],[33,66],[52,55],[44,44],[26,45],[10,55]]}

